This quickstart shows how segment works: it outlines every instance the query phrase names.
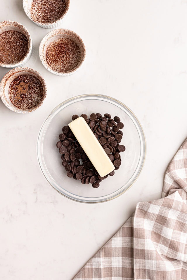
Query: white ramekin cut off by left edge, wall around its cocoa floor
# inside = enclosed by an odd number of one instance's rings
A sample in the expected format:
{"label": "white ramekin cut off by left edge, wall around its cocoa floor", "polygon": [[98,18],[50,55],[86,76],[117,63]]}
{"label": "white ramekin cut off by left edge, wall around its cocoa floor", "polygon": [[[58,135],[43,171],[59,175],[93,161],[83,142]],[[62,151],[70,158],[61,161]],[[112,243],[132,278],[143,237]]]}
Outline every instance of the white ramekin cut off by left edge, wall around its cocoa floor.
{"label": "white ramekin cut off by left edge, wall around its cocoa floor", "polygon": [[31,35],[30,35],[29,31],[25,28],[25,26],[23,26],[19,22],[12,21],[12,20],[1,21],[0,22],[0,34],[5,32],[5,31],[8,31],[8,30],[19,31],[22,34],[24,34],[27,37],[27,40],[28,40],[28,50],[27,50],[27,53],[26,53],[25,57],[21,61],[19,61],[17,63],[14,63],[14,64],[4,64],[4,63],[0,62],[0,66],[1,67],[7,67],[7,68],[13,68],[13,67],[17,67],[17,66],[22,66],[31,57],[31,53],[32,53],[32,39],[31,39]]}

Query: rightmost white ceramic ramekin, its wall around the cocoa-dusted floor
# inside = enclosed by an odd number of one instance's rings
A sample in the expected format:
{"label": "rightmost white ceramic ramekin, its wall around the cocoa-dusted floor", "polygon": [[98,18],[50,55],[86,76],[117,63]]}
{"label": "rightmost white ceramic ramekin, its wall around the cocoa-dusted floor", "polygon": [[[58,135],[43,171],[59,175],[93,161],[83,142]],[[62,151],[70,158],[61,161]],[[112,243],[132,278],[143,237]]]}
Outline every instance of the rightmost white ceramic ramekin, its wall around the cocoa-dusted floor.
{"label": "rightmost white ceramic ramekin, its wall around the cocoa-dusted floor", "polygon": [[[50,45],[50,43],[52,43],[53,41],[55,41],[59,38],[70,38],[71,40],[75,41],[75,43],[77,43],[77,45],[79,46],[79,48],[81,50],[80,63],[77,65],[77,67],[75,69],[68,71],[68,72],[54,71],[49,66],[49,64],[47,63],[47,60],[46,60],[46,51],[47,51],[48,46]],[[69,76],[69,75],[73,74],[75,71],[77,71],[79,69],[79,67],[81,67],[82,63],[84,62],[85,56],[86,56],[86,49],[85,49],[82,39],[74,31],[71,31],[68,29],[56,29],[56,30],[49,32],[41,40],[41,43],[39,46],[39,57],[40,57],[42,64],[48,71],[50,71],[51,73],[58,75],[58,76]]]}

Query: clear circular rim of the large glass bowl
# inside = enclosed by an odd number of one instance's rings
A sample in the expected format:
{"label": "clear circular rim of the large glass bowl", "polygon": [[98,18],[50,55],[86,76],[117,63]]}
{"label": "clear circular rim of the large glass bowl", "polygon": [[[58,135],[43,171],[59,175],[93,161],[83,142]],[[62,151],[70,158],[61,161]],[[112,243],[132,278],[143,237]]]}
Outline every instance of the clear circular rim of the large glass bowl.
{"label": "clear circular rim of the large glass bowl", "polygon": [[[70,195],[66,195],[65,193],[62,193],[60,192],[59,190],[57,190],[53,185],[52,183],[48,180],[48,178],[46,177],[46,175],[44,174],[44,170],[42,169],[42,166],[41,166],[41,162],[40,162],[40,152],[39,152],[39,149],[40,149],[40,139],[41,139],[41,134],[44,130],[44,126],[46,125],[46,122],[48,119],[52,118],[53,117],[53,114],[58,110],[58,108],[60,108],[61,106],[65,105],[65,104],[68,104],[70,103],[71,101],[76,101],[77,99],[79,98],[84,98],[83,100],[86,99],[86,97],[95,97],[95,99],[97,98],[104,98],[104,99],[109,99],[115,103],[118,103],[120,104],[121,106],[123,106],[125,109],[127,109],[127,111],[129,111],[129,113],[132,114],[132,116],[134,117],[134,120],[136,120],[138,126],[139,126],[139,129],[140,129],[140,132],[141,132],[141,136],[142,136],[142,141],[143,141],[143,157],[142,157],[142,161],[141,161],[141,166],[139,168],[139,171],[138,173],[136,174],[135,178],[133,179],[133,181],[130,183],[130,185],[124,189],[124,190],[121,190],[120,192],[118,192],[116,195],[113,195],[113,196],[110,196],[106,199],[101,199],[103,197],[106,197],[107,195],[105,196],[101,196],[101,197],[96,197],[95,200],[91,200],[92,198],[89,198],[90,200],[86,200],[85,197],[81,197],[78,199],[77,197],[79,197],[78,195],[75,195],[75,197],[72,197],[70,192],[68,192]],[[136,127],[137,128],[137,127]],[[140,134],[138,132],[138,135],[140,137]],[[141,140],[141,139],[140,139]],[[142,148],[141,147],[141,148]],[[131,111],[131,109],[129,109],[129,107],[127,107],[124,103],[122,103],[121,101],[113,98],[113,97],[110,97],[108,95],[101,95],[101,94],[84,94],[84,95],[77,95],[75,97],[71,97],[69,99],[66,99],[65,101],[63,101],[62,103],[60,103],[58,106],[56,106],[52,111],[51,113],[48,115],[48,117],[44,120],[43,124],[41,125],[41,128],[39,130],[39,134],[38,134],[38,138],[37,138],[37,159],[38,159],[38,164],[39,164],[39,167],[41,169],[41,172],[44,176],[44,178],[48,181],[48,183],[53,187],[53,189],[55,189],[58,193],[60,193],[61,195],[63,195],[64,197],[68,198],[68,199],[71,199],[73,201],[76,201],[76,202],[81,202],[81,203],[86,203],[86,204],[95,204],[95,203],[102,203],[102,202],[106,202],[106,201],[110,201],[112,199],[115,199],[116,197],[119,197],[120,195],[122,195],[123,193],[125,193],[127,190],[129,190],[129,188],[131,188],[131,186],[136,182],[136,180],[138,179],[142,169],[143,169],[143,166],[144,166],[144,163],[145,163],[145,159],[146,159],[146,137],[145,137],[145,134],[144,134],[144,131],[143,131],[143,128],[141,126],[141,123],[139,122],[138,118],[136,117],[136,115],[133,113],[133,111]],[[140,159],[139,159],[139,162],[140,162]],[[138,164],[139,164],[138,162]],[[138,166],[136,168],[136,170],[138,169]],[[135,172],[136,172],[135,170]],[[134,172],[134,173],[135,173]],[[133,176],[132,176],[133,177]],[[131,177],[131,178],[132,178]],[[122,189],[124,187],[124,185],[120,188]],[[117,191],[116,191],[117,192]],[[112,193],[111,193],[112,194]],[[111,195],[110,194],[110,195]],[[87,197],[88,198],[88,197]]]}

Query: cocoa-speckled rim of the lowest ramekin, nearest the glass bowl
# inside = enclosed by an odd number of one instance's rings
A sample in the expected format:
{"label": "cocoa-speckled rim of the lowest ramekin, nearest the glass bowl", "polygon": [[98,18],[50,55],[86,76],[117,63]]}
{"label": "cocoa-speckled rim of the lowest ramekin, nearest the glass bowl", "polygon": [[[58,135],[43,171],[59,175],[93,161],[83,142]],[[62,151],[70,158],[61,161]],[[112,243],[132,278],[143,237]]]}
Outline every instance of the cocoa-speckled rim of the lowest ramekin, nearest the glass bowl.
{"label": "cocoa-speckled rim of the lowest ramekin, nearest the glass bowl", "polygon": [[[19,72],[20,73],[28,72],[28,74],[34,74],[41,81],[44,93],[43,93],[43,98],[41,99],[40,103],[37,106],[35,106],[31,109],[27,109],[27,110],[20,110],[19,108],[15,107],[13,104],[10,104],[10,102],[6,99],[5,94],[4,94],[4,85],[6,85],[6,82],[8,81],[8,76],[13,75],[16,72],[18,72],[18,73]],[[46,87],[46,82],[45,82],[43,76],[38,71],[36,71],[35,69],[32,69],[30,67],[16,67],[16,68],[13,68],[13,69],[9,70],[3,76],[3,78],[1,79],[1,82],[0,82],[0,97],[1,97],[1,100],[8,109],[10,109],[11,111],[13,111],[15,113],[27,114],[27,113],[31,113],[31,112],[37,110],[44,103],[44,100],[46,98],[46,94],[47,94],[47,87]]]}

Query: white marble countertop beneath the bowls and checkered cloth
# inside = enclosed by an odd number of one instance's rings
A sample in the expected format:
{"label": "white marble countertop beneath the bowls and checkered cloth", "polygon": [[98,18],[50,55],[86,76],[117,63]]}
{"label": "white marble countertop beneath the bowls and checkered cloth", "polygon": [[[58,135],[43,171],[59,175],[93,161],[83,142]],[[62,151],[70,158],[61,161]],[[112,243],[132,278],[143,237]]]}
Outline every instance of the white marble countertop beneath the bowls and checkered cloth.
{"label": "white marble countertop beneath the bowls and checkered cloth", "polygon": [[[48,88],[44,105],[21,115],[0,101],[0,275],[8,280],[70,280],[122,226],[139,201],[161,196],[164,172],[186,138],[187,1],[71,0],[61,27],[77,32],[86,60],[72,76],[41,64],[38,47],[50,30],[31,22],[22,0],[1,1],[0,20],[32,35],[26,66]],[[0,68],[0,78],[8,69]],[[147,157],[136,183],[101,204],[73,202],[44,179],[36,155],[41,124],[63,100],[100,93],[124,102],[146,134]]]}

